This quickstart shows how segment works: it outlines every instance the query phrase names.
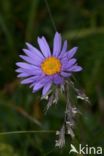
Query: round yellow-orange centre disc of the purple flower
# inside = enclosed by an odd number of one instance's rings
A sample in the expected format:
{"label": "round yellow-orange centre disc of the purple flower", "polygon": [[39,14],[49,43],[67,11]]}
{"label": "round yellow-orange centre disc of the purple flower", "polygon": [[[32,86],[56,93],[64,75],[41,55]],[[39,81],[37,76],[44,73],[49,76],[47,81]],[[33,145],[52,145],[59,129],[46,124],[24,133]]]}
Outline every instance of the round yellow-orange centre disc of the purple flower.
{"label": "round yellow-orange centre disc of the purple flower", "polygon": [[48,57],[42,62],[41,68],[46,75],[53,75],[61,71],[61,62],[56,57]]}

